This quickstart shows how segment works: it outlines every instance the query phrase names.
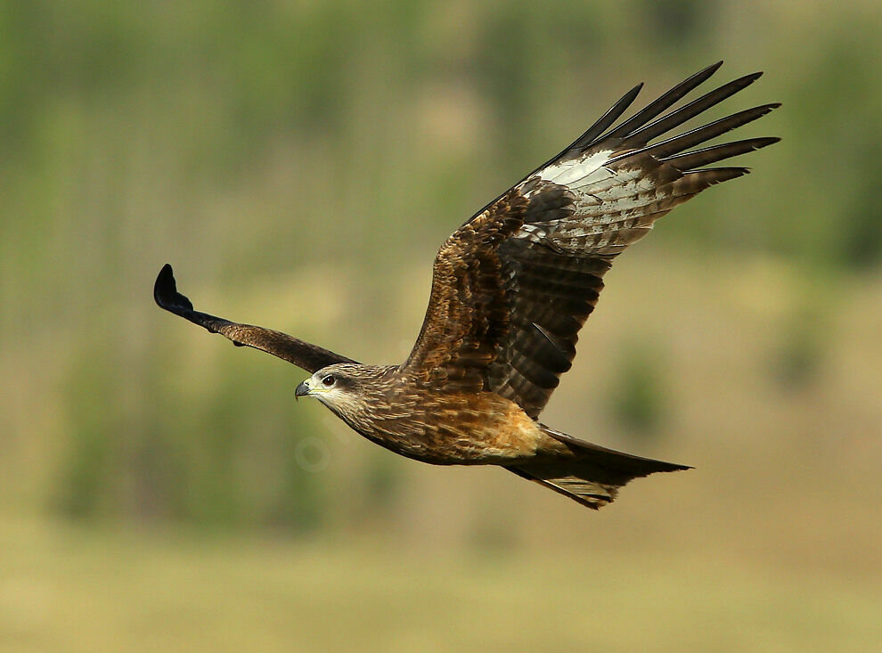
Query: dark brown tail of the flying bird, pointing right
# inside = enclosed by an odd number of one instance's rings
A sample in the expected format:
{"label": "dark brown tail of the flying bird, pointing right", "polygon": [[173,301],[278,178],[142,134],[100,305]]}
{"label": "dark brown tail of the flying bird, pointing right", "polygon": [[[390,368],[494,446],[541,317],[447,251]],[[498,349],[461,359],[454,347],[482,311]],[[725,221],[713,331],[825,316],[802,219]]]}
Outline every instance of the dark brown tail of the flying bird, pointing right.
{"label": "dark brown tail of the flying bird, pointing right", "polygon": [[632,478],[649,476],[657,471],[691,469],[686,465],[613,451],[547,427],[543,430],[566,445],[570,455],[537,458],[506,469],[592,510],[613,502],[618,488]]}

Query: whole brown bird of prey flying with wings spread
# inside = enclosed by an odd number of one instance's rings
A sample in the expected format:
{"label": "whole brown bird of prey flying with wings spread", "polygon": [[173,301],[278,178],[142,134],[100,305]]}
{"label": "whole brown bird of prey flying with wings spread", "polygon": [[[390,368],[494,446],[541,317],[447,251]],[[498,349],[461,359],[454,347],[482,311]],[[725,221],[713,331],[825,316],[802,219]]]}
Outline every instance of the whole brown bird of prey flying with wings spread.
{"label": "whole brown bird of prey flying with wings spread", "polygon": [[600,508],[632,478],[689,468],[560,433],[539,414],[572,364],[613,260],[672,208],[747,173],[713,164],[779,140],[704,145],[777,103],[671,135],[762,74],[671,110],[722,63],[619,121],[642,85],[635,86],[575,143],[453,232],[435,258],[425,322],[404,363],[356,363],[280,331],[200,313],[177,292],[170,265],[154,298],[234,345],[311,372],[296,396],[318,399],[378,445],[437,465],[499,465]]}

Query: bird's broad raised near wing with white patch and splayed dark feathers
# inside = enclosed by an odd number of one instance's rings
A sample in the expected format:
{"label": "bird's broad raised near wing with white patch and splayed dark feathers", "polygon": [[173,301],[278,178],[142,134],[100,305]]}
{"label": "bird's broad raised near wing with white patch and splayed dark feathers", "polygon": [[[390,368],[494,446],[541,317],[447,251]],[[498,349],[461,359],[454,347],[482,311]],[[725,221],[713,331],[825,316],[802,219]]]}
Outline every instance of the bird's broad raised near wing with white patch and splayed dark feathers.
{"label": "bird's broad raised near wing with white patch and splayed dark feathers", "polygon": [[692,149],[779,106],[764,104],[651,143],[762,74],[658,118],[721,64],[613,127],[636,86],[575,143],[453,233],[438,251],[426,319],[400,373],[439,391],[493,391],[538,416],[572,364],[578,331],[613,258],[675,206],[747,173],[705,166],[778,141]]}

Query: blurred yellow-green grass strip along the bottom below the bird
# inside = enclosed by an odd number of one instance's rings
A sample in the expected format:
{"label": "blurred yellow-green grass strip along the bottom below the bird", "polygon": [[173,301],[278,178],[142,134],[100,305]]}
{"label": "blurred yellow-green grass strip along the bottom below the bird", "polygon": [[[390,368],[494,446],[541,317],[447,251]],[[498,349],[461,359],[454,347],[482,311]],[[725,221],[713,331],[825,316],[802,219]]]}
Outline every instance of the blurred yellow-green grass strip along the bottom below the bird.
{"label": "blurred yellow-green grass strip along the bottom below the bird", "polygon": [[0,585],[3,643],[15,646],[0,648],[869,651],[882,635],[866,584],[713,551],[643,567],[630,551],[541,565],[447,551],[426,565],[363,538],[163,535],[0,526],[16,543]]}

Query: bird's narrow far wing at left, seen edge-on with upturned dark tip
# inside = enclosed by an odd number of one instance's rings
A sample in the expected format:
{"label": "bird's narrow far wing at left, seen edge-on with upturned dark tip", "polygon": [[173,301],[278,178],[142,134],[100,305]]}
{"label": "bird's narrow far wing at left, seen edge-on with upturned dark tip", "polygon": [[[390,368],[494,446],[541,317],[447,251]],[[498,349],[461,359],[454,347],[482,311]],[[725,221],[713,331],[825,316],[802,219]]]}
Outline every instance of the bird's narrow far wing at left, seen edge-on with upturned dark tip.
{"label": "bird's narrow far wing at left, seen edge-on with upturned dark tip", "polygon": [[153,285],[153,298],[160,308],[165,308],[170,313],[180,315],[185,320],[200,327],[220,333],[225,338],[233,340],[237,347],[254,347],[282,358],[282,360],[294,363],[306,371],[314,372],[334,363],[355,363],[355,361],[334,354],[334,352],[311,345],[308,342],[289,336],[282,331],[273,331],[252,324],[240,324],[230,322],[223,317],[215,317],[207,313],[200,313],[193,309],[188,298],[177,291],[175,275],[171,265],[163,265]]}

